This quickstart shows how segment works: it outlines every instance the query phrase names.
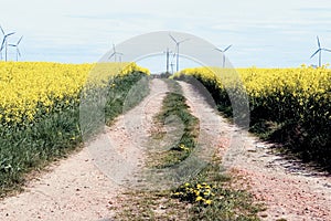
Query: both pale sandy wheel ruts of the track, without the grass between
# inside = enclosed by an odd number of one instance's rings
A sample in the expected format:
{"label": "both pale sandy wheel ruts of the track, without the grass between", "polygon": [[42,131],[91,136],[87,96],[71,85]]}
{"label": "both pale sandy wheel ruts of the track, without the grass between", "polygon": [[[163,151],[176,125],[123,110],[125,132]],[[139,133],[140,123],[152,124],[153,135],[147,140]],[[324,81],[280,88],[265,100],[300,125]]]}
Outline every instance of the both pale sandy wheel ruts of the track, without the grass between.
{"label": "both pale sandy wheel ruts of the track, without the grass between", "polygon": [[[330,175],[273,154],[271,145],[228,124],[191,85],[181,86],[200,118],[199,143],[220,149],[226,156],[224,166],[241,177],[236,187],[248,188],[257,201],[266,203],[263,220],[331,220]],[[143,164],[141,144],[166,92],[167,85],[153,80],[151,94],[96,140],[51,166],[23,193],[1,201],[0,220],[111,220],[109,207],[120,203],[116,196]],[[202,150],[204,160],[210,160],[213,152]]]}

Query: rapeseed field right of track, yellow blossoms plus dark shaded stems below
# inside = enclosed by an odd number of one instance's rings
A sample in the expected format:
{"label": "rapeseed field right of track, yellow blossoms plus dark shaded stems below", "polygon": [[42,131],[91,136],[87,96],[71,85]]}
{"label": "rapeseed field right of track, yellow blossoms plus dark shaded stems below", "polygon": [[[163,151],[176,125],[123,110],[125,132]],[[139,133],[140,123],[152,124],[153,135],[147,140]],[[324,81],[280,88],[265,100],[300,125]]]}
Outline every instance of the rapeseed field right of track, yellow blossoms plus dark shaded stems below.
{"label": "rapeseed field right of track, yellow blossoms plus dark shaded stems below", "polygon": [[186,76],[201,82],[226,115],[232,116],[232,101],[249,104],[253,131],[285,144],[305,160],[330,167],[330,69],[195,67],[174,78]]}

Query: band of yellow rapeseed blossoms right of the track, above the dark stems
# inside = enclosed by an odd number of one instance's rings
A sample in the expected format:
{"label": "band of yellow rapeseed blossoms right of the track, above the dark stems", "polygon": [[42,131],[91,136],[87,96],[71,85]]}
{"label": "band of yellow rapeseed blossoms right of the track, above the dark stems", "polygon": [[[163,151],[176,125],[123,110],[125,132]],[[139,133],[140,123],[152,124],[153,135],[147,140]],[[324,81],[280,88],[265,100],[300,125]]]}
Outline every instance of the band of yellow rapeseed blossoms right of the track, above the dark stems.
{"label": "band of yellow rapeseed blossoms right of the track, above the dark stems", "polygon": [[[237,73],[238,78],[233,74]],[[218,76],[216,76],[217,74]],[[229,73],[229,74],[228,74]],[[201,82],[215,85],[220,91],[232,87],[233,82],[239,80],[245,88],[250,105],[285,105],[282,108],[292,108],[301,113],[319,113],[330,118],[331,103],[331,70],[312,69],[302,65],[298,69],[237,69],[222,70],[209,67],[185,69],[179,75],[191,75]],[[290,116],[289,116],[290,117]],[[317,117],[317,116],[314,116]]]}

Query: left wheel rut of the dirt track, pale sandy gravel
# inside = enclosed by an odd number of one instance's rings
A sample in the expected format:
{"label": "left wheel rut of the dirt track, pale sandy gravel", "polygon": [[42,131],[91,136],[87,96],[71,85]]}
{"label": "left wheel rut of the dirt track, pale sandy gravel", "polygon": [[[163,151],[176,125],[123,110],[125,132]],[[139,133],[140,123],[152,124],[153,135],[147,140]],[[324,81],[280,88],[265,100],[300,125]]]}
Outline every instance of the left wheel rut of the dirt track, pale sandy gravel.
{"label": "left wheel rut of the dirt track, pale sandy gravel", "polygon": [[[119,203],[115,198],[124,190],[122,179],[139,168],[139,143],[149,135],[152,116],[168,90],[160,80],[153,80],[150,86],[151,93],[141,104],[120,116],[87,147],[53,164],[50,172],[31,180],[23,193],[2,200],[0,220],[110,220],[114,214],[109,207]],[[108,143],[111,145],[107,147]],[[114,156],[103,155],[106,150]]]}

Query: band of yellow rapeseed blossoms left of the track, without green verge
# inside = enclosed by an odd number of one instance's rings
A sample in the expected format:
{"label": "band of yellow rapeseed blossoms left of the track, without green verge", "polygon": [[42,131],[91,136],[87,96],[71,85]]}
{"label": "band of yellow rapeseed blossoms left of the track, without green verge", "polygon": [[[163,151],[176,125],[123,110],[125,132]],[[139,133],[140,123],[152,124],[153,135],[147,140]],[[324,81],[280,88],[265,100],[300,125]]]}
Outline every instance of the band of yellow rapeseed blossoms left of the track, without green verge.
{"label": "band of yellow rapeseed blossoms left of the track, without green verge", "polygon": [[[120,66],[124,70],[119,74],[148,72],[135,63],[121,63]],[[98,81],[107,81],[109,75],[116,74],[115,67],[118,63],[0,62],[0,122],[30,122],[40,108],[49,112],[57,101],[78,98],[82,87],[90,78],[98,76]]]}

